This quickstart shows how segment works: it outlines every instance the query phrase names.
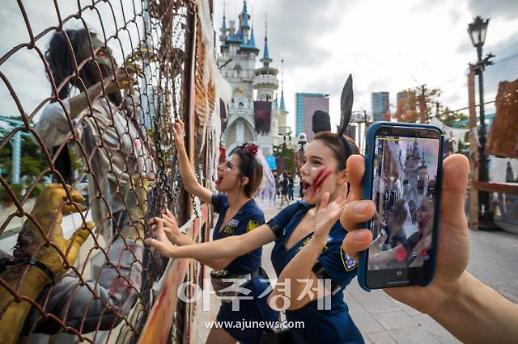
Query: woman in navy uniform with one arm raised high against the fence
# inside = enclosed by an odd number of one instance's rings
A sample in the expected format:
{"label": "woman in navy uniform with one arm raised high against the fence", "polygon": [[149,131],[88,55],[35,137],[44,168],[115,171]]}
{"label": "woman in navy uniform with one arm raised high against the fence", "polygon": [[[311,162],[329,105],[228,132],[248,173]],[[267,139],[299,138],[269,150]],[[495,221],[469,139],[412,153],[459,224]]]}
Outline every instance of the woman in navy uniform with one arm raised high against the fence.
{"label": "woman in navy uniform with one arm raised high against the fence", "polygon": [[[183,123],[175,123],[173,132],[175,138],[183,138]],[[263,211],[252,199],[263,179],[263,166],[256,157],[258,149],[256,145],[247,144],[236,148],[229,158],[220,164],[216,181],[216,189],[219,193],[213,193],[198,183],[183,140],[176,139],[175,145],[185,189],[200,198],[202,202],[211,203],[214,211],[219,214],[213,231],[214,242],[219,242],[219,239],[222,238],[250,233],[264,224]],[[161,218],[154,219],[152,228],[163,229],[167,238],[179,246],[194,243],[192,239],[180,232],[174,216],[168,211]],[[239,300],[239,311],[232,311],[233,302],[230,297],[221,299],[222,305],[217,320],[225,321],[225,323],[220,323],[223,327],[230,321],[276,321],[279,319],[279,312],[274,311],[267,304],[269,292],[265,291],[269,288],[269,283],[268,277],[261,269],[261,254],[262,248],[259,246],[243,254],[223,259],[200,259],[200,262],[213,269],[211,278],[216,292],[218,292],[218,285],[224,284],[224,281],[229,279],[243,281],[239,287],[251,291],[247,295],[247,299]],[[262,297],[259,298],[261,295]],[[213,327],[207,343],[235,343],[236,341],[245,344],[258,343],[261,335],[260,328],[243,331],[241,328],[232,328],[232,326]]]}

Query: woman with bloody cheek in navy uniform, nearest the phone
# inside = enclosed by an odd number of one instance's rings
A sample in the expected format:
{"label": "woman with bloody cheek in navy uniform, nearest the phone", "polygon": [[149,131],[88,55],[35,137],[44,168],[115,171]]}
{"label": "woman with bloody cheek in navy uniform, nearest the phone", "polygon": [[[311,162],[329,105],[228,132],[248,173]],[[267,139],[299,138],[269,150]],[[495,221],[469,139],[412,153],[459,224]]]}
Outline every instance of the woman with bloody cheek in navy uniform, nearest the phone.
{"label": "woman with bloody cheek in navy uniform, nearest the phone", "polygon": [[319,133],[307,146],[300,169],[304,200],[286,207],[266,225],[226,238],[220,245],[177,247],[160,233],[158,240],[146,242],[164,255],[214,259],[242,255],[275,241],[272,263],[280,276],[270,299],[272,305],[288,309],[287,320],[304,323],[303,329],[291,329],[294,341],[363,343],[343,300],[343,289],[356,276],[356,262],[341,249],[347,233],[338,221],[349,193],[349,174],[358,175],[346,170],[346,161],[357,153],[352,141]]}

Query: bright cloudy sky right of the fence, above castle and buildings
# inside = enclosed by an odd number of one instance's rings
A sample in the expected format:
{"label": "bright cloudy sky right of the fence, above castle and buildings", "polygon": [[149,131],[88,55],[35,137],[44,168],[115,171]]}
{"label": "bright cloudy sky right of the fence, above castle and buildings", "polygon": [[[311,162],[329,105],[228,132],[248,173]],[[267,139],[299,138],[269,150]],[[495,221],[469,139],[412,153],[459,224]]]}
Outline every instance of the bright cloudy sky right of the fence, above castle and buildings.
{"label": "bright cloudy sky right of the fence, above castle and buildings", "polygon": [[[237,19],[241,0],[215,0],[215,25]],[[340,92],[354,80],[353,110],[370,112],[370,94],[396,93],[427,84],[442,89],[441,103],[467,106],[466,75],[476,51],[466,31],[476,15],[491,18],[484,51],[496,55],[485,73],[486,101],[498,82],[518,78],[516,0],[248,0],[256,42],[263,47],[264,21],[273,65],[284,59],[284,90],[294,121],[295,92],[330,94],[330,112],[339,121]],[[228,25],[228,23],[227,23]],[[494,111],[488,106],[487,111]],[[293,122],[292,122],[293,125]]]}

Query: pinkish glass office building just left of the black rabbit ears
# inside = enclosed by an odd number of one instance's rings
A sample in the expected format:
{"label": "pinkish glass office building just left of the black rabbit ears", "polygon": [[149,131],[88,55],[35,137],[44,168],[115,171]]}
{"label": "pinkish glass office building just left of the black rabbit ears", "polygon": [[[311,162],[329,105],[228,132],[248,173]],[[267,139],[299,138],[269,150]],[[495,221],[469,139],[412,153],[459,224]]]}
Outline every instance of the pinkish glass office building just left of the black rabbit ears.
{"label": "pinkish glass office building just left of the black rabbit ears", "polygon": [[306,133],[308,142],[313,138],[312,119],[317,110],[329,113],[329,94],[296,93],[295,94],[295,130],[297,136]]}

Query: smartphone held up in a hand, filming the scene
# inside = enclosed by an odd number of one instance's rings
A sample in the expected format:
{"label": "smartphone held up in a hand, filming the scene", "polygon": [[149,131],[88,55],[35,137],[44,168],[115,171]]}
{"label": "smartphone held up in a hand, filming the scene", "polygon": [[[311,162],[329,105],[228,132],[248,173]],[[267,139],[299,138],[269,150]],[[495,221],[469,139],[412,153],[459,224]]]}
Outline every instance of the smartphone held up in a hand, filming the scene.
{"label": "smartphone held up in a hand, filming the scene", "polygon": [[376,205],[372,232],[360,253],[365,290],[425,286],[438,243],[443,133],[431,125],[376,122],[367,130],[364,199]]}

